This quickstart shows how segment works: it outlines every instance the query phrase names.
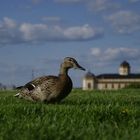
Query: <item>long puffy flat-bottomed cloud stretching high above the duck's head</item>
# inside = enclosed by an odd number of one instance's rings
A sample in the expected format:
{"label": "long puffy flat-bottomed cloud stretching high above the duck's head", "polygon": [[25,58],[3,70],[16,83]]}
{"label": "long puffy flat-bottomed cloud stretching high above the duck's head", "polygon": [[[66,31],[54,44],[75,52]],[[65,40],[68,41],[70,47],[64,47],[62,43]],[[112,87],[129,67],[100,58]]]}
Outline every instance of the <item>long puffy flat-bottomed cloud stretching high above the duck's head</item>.
{"label": "long puffy flat-bottomed cloud stretching high above the duck's head", "polygon": [[26,41],[83,41],[92,40],[102,35],[101,30],[89,25],[62,28],[49,27],[46,24],[28,24],[20,26],[20,31]]}

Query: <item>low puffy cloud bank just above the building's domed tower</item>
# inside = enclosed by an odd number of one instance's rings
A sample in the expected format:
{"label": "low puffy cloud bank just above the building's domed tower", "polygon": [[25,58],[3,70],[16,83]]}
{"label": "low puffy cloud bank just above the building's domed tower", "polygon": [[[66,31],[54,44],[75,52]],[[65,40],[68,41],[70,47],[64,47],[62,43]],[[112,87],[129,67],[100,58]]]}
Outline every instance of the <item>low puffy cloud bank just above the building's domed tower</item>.
{"label": "low puffy cloud bank just above the building's domed tower", "polygon": [[140,49],[138,48],[107,48],[105,50],[100,48],[92,48],[91,56],[95,61],[112,62],[123,60],[138,60],[140,58]]}

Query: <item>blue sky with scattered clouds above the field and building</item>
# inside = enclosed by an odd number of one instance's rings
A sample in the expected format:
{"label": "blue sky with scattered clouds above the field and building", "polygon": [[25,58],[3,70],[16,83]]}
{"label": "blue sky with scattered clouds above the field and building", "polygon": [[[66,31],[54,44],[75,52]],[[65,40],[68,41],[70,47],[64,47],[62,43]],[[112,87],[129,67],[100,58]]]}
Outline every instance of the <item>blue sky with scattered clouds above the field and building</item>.
{"label": "blue sky with scattered clouds above the field and building", "polygon": [[[0,0],[0,83],[58,75],[67,56],[95,75],[118,73],[124,60],[140,73],[139,7],[140,0]],[[69,71],[75,87],[86,72]]]}

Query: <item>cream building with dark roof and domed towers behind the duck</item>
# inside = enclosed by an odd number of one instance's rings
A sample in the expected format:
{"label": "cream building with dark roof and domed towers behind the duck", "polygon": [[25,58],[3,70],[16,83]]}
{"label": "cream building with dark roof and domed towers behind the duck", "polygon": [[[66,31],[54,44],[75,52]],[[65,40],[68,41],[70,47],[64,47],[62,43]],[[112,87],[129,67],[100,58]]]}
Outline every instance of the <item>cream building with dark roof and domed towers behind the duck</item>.
{"label": "cream building with dark roof and domed towers behind the duck", "polygon": [[88,72],[83,78],[83,90],[113,90],[140,83],[140,74],[131,73],[131,66],[123,61],[117,74],[100,74],[95,76]]}

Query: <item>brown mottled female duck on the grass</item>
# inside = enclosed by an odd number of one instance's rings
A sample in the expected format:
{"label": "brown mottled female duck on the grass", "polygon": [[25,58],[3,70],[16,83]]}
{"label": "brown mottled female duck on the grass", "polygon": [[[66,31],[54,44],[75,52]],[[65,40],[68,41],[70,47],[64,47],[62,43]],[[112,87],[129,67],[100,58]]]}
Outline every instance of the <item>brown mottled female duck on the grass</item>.
{"label": "brown mottled female duck on the grass", "polygon": [[42,76],[20,87],[20,93],[16,97],[30,101],[42,101],[47,103],[59,102],[72,90],[72,80],[68,76],[70,68],[85,70],[74,58],[66,57],[60,66],[58,76]]}

